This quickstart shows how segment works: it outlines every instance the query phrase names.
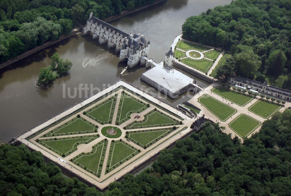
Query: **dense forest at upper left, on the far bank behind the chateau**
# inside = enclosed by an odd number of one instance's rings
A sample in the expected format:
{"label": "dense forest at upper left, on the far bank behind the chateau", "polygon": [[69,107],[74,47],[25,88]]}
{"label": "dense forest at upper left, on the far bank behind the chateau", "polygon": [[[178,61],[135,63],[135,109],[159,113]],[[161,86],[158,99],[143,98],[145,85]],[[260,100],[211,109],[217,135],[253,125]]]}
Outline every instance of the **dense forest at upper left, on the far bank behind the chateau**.
{"label": "dense forest at upper left, on the far bank behind the chateau", "polygon": [[153,3],[154,0],[1,0],[0,63],[69,34],[86,23]]}

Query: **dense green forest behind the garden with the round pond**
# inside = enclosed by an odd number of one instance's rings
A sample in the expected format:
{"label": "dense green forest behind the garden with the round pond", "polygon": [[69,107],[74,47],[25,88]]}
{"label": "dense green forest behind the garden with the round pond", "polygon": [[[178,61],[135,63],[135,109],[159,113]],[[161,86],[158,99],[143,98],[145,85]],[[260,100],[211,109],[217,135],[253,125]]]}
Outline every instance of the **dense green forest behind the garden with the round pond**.
{"label": "dense green forest behind the garden with the round pond", "polygon": [[[183,37],[230,50],[237,75],[291,90],[291,1],[237,0],[189,17]],[[265,76],[266,75],[266,76]]]}

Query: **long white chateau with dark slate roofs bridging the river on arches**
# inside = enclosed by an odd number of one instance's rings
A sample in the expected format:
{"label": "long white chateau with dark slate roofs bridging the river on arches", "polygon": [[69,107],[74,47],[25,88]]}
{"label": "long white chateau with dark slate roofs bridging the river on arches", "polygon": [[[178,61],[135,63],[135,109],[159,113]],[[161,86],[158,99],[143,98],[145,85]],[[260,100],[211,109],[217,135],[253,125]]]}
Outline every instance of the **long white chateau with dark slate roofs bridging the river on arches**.
{"label": "long white chateau with dark slate roofs bridging the river on arches", "polygon": [[147,57],[150,49],[150,41],[144,35],[128,34],[96,17],[93,12],[87,20],[86,27],[82,30],[82,35],[93,33],[93,39],[98,39],[99,43],[108,43],[109,48],[116,47],[120,51],[119,62],[127,61],[127,66],[132,68]]}

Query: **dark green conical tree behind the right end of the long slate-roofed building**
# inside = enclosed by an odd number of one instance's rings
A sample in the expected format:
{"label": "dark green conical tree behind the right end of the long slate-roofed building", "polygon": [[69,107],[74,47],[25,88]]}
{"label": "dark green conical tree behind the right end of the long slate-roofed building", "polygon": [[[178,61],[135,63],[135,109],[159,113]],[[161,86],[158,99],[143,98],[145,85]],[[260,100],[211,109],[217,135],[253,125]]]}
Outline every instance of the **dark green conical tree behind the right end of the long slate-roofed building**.
{"label": "dark green conical tree behind the right end of the long slate-roofed building", "polygon": [[267,59],[267,67],[270,75],[278,77],[283,72],[287,58],[282,50],[274,50]]}

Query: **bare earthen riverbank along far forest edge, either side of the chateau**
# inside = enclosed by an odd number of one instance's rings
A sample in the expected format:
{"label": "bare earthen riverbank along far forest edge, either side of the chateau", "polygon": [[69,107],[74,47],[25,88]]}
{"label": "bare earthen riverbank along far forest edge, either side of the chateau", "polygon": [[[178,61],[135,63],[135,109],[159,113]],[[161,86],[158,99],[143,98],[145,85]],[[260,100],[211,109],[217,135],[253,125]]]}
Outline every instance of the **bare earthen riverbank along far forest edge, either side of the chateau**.
{"label": "bare earthen riverbank along far forest edge, either side of the chateau", "polygon": [[[134,13],[134,12],[138,12],[138,11],[143,10],[143,9],[145,9],[145,8],[148,8],[148,7],[150,7],[150,6],[153,6],[153,5],[156,5],[156,4],[158,4],[158,3],[161,3],[161,2],[163,2],[163,1],[165,1],[165,0],[158,0],[158,1],[155,1],[153,4],[149,4],[149,5],[146,5],[146,6],[143,6],[143,7],[139,7],[139,8],[136,8],[136,9],[134,9],[134,10],[123,11],[123,12],[121,12],[121,14],[119,14],[119,15],[115,15],[115,16],[107,17],[107,18],[103,19],[103,21],[104,21],[104,22],[113,21],[113,20],[115,20],[115,19],[121,18],[121,17],[126,16],[126,15],[128,15],[128,14],[131,14],[131,13]],[[47,48],[47,47],[49,47],[49,46],[52,46],[52,45],[54,45],[55,43],[58,43],[58,42],[60,42],[60,41],[62,41],[62,40],[64,40],[64,39],[66,39],[66,38],[68,38],[68,37],[71,37],[71,36],[73,36],[73,35],[76,35],[78,32],[81,32],[81,30],[82,30],[81,27],[75,28],[74,30],[72,30],[72,32],[71,32],[69,35],[62,35],[59,39],[57,39],[57,40],[55,40],[55,41],[48,41],[48,42],[44,43],[44,44],[41,45],[41,46],[37,46],[36,48],[33,48],[33,49],[31,49],[31,50],[28,50],[28,51],[24,52],[22,55],[18,55],[17,57],[8,60],[8,61],[6,61],[5,63],[0,64],[0,69],[4,68],[4,67],[6,67],[6,66],[8,66],[8,65],[10,65],[10,64],[12,64],[12,63],[15,63],[15,62],[17,62],[17,61],[19,61],[19,60],[21,60],[21,59],[24,59],[25,57],[28,57],[28,56],[30,56],[30,55],[32,55],[32,54],[34,54],[34,53],[36,53],[36,52],[38,52],[38,51],[40,51],[40,50],[43,50],[43,49],[45,49],[45,48]]]}

